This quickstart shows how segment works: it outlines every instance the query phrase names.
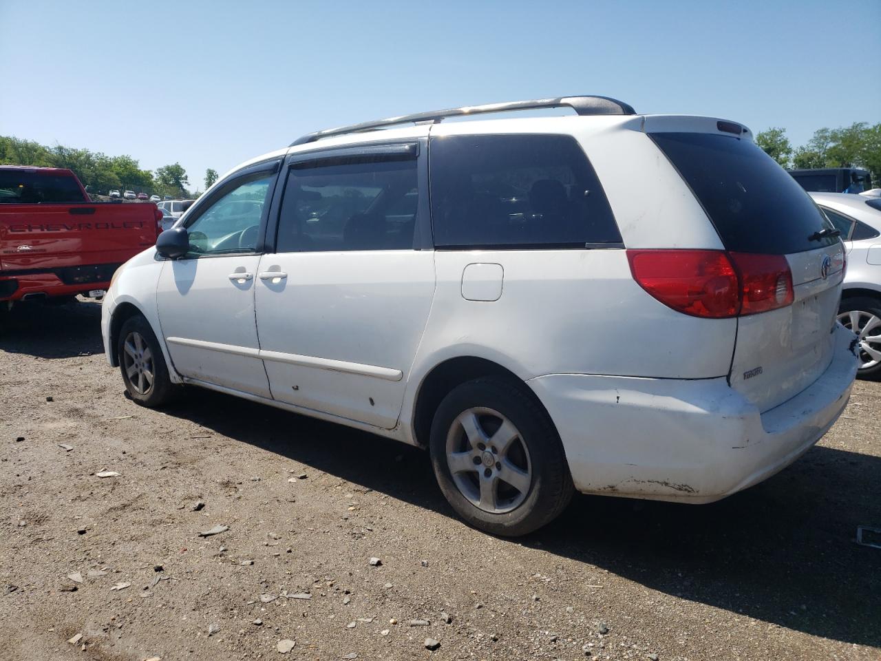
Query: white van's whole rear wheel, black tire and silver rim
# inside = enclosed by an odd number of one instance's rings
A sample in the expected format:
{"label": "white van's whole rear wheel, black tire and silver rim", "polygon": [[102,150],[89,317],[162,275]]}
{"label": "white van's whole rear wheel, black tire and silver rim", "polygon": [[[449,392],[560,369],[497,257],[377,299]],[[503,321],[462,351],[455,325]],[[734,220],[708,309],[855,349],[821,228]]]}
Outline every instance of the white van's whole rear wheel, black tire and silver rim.
{"label": "white van's whole rear wheel, black tire and silver rim", "polygon": [[468,524],[503,537],[550,523],[574,493],[559,434],[524,389],[497,377],[465,382],[432,423],[429,449],[447,501]]}

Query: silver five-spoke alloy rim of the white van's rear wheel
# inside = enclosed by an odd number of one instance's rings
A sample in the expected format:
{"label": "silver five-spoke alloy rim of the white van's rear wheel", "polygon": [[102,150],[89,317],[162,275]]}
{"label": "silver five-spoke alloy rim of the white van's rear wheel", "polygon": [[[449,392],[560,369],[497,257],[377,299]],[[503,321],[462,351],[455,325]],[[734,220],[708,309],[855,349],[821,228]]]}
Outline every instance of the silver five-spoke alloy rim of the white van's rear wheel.
{"label": "silver five-spoke alloy rim of the white van's rear wheel", "polygon": [[529,494],[529,449],[500,412],[474,407],[460,413],[447,434],[447,465],[459,492],[475,507],[504,514]]}

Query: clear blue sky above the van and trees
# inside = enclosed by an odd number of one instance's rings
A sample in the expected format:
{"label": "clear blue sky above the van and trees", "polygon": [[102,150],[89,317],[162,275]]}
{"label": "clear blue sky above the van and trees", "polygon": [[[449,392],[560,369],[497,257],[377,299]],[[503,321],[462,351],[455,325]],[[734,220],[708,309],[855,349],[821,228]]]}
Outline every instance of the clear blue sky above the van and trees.
{"label": "clear blue sky above the van and trees", "polygon": [[0,135],[180,161],[194,189],[312,130],[580,93],[799,145],[881,122],[879,26],[879,0],[0,0]]}

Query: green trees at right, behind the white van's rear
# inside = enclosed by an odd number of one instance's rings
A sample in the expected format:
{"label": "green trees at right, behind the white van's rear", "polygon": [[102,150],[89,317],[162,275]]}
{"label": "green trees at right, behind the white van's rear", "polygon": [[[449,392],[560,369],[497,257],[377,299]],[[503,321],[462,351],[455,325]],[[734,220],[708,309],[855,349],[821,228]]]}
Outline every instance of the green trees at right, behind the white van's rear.
{"label": "green trees at right, behind the white van's rear", "polygon": [[782,167],[863,167],[872,173],[872,185],[881,185],[881,123],[819,129],[807,145],[795,148],[786,129],[774,127],[756,134],[756,144]]}

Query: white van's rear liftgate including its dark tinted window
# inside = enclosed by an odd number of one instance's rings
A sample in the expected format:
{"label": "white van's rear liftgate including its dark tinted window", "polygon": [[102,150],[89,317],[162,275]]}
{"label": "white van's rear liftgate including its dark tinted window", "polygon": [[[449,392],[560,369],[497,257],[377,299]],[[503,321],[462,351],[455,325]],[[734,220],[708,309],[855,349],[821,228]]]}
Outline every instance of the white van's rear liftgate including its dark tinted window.
{"label": "white van's rear liftgate including its dark tinted window", "polygon": [[[691,187],[725,249],[784,256],[793,302],[738,318],[729,381],[761,411],[811,385],[832,360],[844,246],[807,193],[750,139],[649,132]],[[748,293],[747,293],[748,295]]]}

